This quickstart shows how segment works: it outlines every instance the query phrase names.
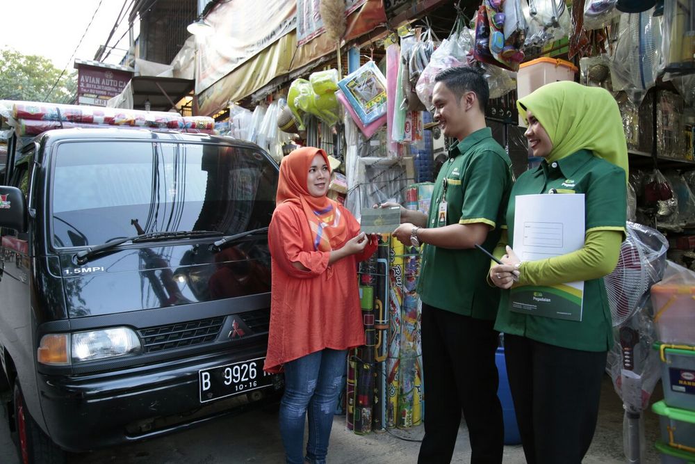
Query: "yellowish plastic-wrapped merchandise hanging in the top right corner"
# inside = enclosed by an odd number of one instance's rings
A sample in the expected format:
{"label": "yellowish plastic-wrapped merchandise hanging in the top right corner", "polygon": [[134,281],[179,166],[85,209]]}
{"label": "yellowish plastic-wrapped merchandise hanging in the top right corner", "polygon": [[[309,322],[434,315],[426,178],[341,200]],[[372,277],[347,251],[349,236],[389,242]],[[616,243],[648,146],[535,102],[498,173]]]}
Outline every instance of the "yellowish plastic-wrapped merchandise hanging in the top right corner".
{"label": "yellowish plastic-wrapped merchandise hanging in the top right corner", "polygon": [[664,0],[664,70],[695,72],[695,0]]}

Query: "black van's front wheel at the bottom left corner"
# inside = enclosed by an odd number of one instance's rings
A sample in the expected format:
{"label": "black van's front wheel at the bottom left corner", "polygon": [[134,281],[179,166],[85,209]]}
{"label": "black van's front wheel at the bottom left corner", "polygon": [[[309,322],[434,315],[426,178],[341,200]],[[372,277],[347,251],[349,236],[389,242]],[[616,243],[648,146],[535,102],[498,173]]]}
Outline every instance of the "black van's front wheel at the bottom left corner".
{"label": "black van's front wheel at the bottom left corner", "polygon": [[24,403],[22,389],[15,383],[15,442],[22,464],[65,464],[65,451],[41,430]]}

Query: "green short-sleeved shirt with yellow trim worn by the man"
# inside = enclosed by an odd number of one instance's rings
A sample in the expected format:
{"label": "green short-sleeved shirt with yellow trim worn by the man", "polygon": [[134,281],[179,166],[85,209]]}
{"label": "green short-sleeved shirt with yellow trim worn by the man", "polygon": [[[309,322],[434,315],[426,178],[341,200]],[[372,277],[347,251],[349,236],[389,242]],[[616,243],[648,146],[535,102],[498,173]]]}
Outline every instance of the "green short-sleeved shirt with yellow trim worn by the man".
{"label": "green short-sleeved shirt with yellow trim worn by the man", "polygon": [[[439,204],[447,203],[446,225],[485,223],[492,227],[482,244],[492,253],[512,190],[512,161],[488,127],[449,150],[434,183],[427,227],[438,227]],[[451,250],[425,244],[418,280],[423,303],[477,319],[493,320],[499,291],[486,283],[490,259],[480,250]]]}

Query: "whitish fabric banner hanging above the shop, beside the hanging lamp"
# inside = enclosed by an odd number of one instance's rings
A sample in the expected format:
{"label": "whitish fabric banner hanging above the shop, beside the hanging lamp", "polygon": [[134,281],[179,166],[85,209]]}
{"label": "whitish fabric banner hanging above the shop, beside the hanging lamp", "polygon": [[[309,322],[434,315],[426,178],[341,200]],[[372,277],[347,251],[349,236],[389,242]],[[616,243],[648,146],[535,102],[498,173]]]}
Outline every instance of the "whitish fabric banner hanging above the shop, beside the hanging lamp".
{"label": "whitish fabric banner hanging above the shop, beside the hanging lamp", "polygon": [[208,36],[197,36],[195,93],[201,93],[252,56],[295,29],[293,1],[228,1],[218,3],[205,20]]}

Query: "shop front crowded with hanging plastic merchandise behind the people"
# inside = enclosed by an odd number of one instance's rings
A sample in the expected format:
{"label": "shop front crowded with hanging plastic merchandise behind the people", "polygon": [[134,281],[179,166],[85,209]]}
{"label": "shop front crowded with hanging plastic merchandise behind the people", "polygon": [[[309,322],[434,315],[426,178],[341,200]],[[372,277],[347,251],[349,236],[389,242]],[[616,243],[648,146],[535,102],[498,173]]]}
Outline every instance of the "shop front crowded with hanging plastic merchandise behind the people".
{"label": "shop front crowded with hanging plastic merchandise behind the people", "polygon": [[[516,99],[559,80],[609,90],[630,154],[630,222],[621,262],[606,278],[616,342],[607,372],[626,408],[626,456],[639,462],[654,445],[639,437],[657,381],[669,390],[657,414],[681,428],[695,423],[695,342],[664,335],[673,327],[695,333],[695,3],[484,0],[429,10],[425,3],[432,2],[418,2],[409,16],[399,2],[386,2],[387,16],[400,22],[366,42],[338,42],[346,72],[324,64],[256,105],[232,102],[224,129],[277,159],[297,144],[324,147],[340,163],[332,195],[359,218],[388,200],[429,207],[448,145],[432,120],[440,70],[484,72],[487,122],[517,175],[540,160],[528,157]],[[379,253],[359,269],[368,344],[349,361],[347,427],[355,433],[408,429],[426,414],[412,285],[419,251],[384,235]],[[507,422],[514,423],[513,408]],[[657,448],[681,459],[673,462],[695,459],[695,445],[679,440],[664,425]]]}

